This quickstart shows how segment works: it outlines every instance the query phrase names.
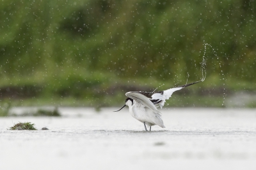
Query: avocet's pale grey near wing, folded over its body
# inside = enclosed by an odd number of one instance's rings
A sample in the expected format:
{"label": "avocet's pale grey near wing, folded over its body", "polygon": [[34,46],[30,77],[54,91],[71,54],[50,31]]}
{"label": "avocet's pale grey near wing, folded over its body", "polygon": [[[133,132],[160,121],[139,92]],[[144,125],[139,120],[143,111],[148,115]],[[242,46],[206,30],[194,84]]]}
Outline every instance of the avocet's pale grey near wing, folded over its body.
{"label": "avocet's pale grey near wing, folded over its body", "polygon": [[150,101],[150,99],[145,95],[141,94],[140,92],[131,91],[131,92],[125,93],[125,95],[129,98],[132,98],[136,102],[145,105],[145,107],[152,109],[152,111],[159,112],[157,111],[156,106]]}

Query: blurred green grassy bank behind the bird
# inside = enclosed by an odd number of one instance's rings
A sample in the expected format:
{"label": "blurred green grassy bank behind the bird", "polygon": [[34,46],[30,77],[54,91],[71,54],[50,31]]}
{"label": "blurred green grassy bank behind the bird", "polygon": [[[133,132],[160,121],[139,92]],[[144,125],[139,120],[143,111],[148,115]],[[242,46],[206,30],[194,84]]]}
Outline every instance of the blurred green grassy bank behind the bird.
{"label": "blurred green grassy bank behind the bird", "polygon": [[205,58],[205,81],[169,106],[256,107],[255,13],[253,0],[1,1],[1,105],[118,106],[202,79]]}

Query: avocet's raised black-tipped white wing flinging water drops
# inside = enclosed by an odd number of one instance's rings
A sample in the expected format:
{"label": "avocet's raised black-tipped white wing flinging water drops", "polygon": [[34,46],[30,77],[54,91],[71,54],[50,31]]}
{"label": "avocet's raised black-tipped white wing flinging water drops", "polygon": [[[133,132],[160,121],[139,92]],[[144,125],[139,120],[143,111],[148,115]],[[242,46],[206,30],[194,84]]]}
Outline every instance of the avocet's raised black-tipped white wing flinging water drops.
{"label": "avocet's raised black-tipped white wing flinging water drops", "polygon": [[191,86],[192,84],[196,84],[198,82],[201,82],[201,81],[192,82],[190,84],[184,84],[182,86],[166,89],[164,91],[157,91],[156,93],[154,93],[152,95],[151,100],[155,105],[159,105],[162,108],[164,106],[165,100],[168,100],[170,97],[172,97],[172,93],[174,91],[178,91],[180,89],[186,88],[186,87]]}

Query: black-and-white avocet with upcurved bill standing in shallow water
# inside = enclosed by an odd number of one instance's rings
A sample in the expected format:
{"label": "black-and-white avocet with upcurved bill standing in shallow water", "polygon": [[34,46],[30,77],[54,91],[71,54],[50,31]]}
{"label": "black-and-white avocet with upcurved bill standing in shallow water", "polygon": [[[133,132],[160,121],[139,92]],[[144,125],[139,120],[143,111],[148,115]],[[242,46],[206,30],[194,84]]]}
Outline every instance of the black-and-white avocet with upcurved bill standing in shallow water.
{"label": "black-and-white avocet with upcurved bill standing in shallow water", "polygon": [[[204,81],[204,80],[201,80]],[[185,84],[182,86],[178,86],[176,88],[166,89],[164,91],[157,92],[142,92],[142,91],[130,91],[125,93],[128,97],[125,100],[125,105],[121,108],[123,109],[126,105],[129,107],[129,112],[131,116],[136,120],[140,121],[144,124],[145,130],[147,130],[146,125],[148,125],[149,130],[151,131],[151,127],[154,125],[158,125],[159,127],[164,128],[164,123],[162,120],[162,114],[157,110],[157,107],[164,106],[165,100],[168,100],[174,91],[180,90],[182,88],[186,88],[191,86],[192,84],[196,84],[201,81],[192,82],[190,84]],[[118,111],[121,111],[119,109]],[[115,111],[115,112],[118,112]]]}

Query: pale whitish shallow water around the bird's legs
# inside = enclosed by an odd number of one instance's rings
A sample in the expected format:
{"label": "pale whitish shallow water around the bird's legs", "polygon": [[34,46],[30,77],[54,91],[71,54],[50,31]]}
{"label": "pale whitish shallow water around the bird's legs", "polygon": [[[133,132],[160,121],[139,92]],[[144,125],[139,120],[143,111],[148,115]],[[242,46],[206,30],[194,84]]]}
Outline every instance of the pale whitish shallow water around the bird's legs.
{"label": "pale whitish shallow water around the bird's legs", "polygon": [[[255,169],[255,109],[165,109],[152,132],[116,109],[1,118],[0,169]],[[19,121],[49,130],[6,130]]]}

